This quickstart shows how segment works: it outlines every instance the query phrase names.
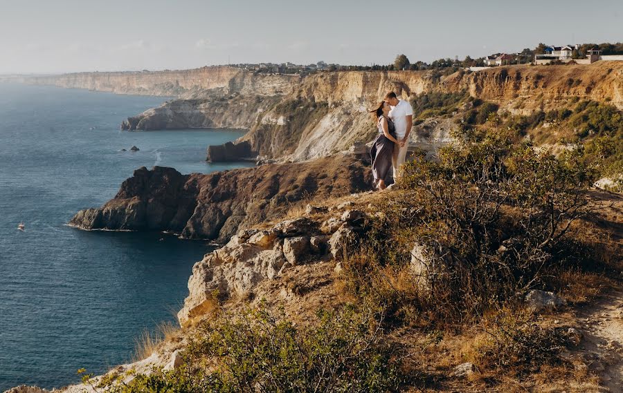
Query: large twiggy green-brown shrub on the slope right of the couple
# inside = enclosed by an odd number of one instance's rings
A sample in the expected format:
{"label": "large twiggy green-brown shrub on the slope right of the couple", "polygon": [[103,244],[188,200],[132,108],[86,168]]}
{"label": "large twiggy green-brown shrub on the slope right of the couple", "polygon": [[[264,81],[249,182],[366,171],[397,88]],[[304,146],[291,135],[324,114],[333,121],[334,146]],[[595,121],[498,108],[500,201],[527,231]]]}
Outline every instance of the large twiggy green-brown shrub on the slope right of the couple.
{"label": "large twiggy green-brown shrub on the slope right of the couple", "polygon": [[576,251],[572,223],[593,209],[582,191],[594,174],[581,155],[471,131],[440,162],[406,164],[401,192],[370,223],[369,247],[346,264],[351,289],[387,305],[391,318],[415,307],[446,324],[545,287],[545,272]]}

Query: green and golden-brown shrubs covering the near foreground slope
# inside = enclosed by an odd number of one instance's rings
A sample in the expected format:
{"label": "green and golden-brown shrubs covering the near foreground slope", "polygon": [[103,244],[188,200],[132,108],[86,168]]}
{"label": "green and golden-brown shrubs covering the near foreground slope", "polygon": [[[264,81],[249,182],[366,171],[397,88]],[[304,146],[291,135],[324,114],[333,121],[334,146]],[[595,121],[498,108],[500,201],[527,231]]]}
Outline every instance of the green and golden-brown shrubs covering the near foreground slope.
{"label": "green and golden-brown shrubs covering the near foreground slope", "polygon": [[[113,374],[103,385],[125,393],[431,387],[418,356],[440,340],[436,332],[472,325],[487,331],[466,354],[480,370],[521,375],[568,363],[568,336],[539,323],[523,296],[588,285],[585,277],[614,268],[612,245],[578,230],[599,209],[585,194],[593,169],[577,149],[557,157],[517,133],[461,140],[439,162],[411,162],[400,189],[379,194],[359,252],[342,261],[339,287],[354,305],[326,305],[334,311],[306,325],[265,309],[217,313],[199,325],[179,369],[129,383]],[[414,331],[427,332],[428,344],[395,338]]]}

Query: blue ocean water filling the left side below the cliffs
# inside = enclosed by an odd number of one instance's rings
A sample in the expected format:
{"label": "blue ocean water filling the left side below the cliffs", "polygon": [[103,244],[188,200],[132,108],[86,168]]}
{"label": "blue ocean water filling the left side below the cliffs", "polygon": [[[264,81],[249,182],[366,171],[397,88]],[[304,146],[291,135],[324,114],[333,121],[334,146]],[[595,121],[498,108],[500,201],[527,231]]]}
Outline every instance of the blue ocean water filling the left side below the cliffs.
{"label": "blue ocean water filling the left side below the cliffs", "polygon": [[[118,130],[165,99],[0,83],[0,392],[103,372],[131,360],[145,329],[175,321],[206,242],[65,225],[140,166],[249,166],[204,161],[208,144],[241,131]],[[132,145],[141,150],[119,151]]]}

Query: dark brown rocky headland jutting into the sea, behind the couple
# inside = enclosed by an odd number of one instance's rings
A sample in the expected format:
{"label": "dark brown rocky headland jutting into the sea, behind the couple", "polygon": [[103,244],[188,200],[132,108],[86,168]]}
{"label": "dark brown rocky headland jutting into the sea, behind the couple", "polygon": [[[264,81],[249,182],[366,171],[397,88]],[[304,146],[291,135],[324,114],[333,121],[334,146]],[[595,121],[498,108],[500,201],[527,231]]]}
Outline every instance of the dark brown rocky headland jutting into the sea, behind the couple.
{"label": "dark brown rocky headland jutting into the sea, behind the couple", "polygon": [[78,212],[69,224],[80,229],[174,231],[183,238],[226,242],[239,227],[276,218],[291,204],[362,191],[370,182],[369,169],[343,155],[208,175],[143,167],[123,182],[115,198],[98,209]]}

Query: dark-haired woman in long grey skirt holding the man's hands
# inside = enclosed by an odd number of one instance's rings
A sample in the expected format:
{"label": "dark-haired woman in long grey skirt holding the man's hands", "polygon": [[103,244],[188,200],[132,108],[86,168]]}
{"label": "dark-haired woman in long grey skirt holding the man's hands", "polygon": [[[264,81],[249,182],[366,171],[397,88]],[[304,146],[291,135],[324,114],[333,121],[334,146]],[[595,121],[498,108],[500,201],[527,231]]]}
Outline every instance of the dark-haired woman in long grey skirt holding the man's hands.
{"label": "dark-haired woman in long grey skirt holding the man's hands", "polygon": [[399,143],[395,137],[394,122],[389,118],[388,113],[391,110],[390,104],[381,101],[379,107],[374,111],[370,111],[377,122],[379,135],[374,140],[370,149],[370,157],[372,157],[372,175],[374,176],[374,186],[377,190],[386,189],[385,178],[388,171],[392,167],[392,154],[394,153],[394,144]]}

